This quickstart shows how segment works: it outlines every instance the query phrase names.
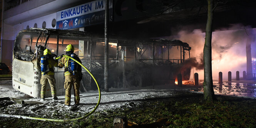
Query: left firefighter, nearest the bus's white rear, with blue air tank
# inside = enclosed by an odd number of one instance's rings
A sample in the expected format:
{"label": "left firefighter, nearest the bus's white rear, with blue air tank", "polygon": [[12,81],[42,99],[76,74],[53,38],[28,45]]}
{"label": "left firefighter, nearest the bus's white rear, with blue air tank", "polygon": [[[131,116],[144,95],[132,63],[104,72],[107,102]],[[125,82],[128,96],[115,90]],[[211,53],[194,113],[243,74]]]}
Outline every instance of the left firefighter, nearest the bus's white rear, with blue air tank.
{"label": "left firefighter, nearest the bus's white rear, with blue air tank", "polygon": [[49,49],[44,50],[44,57],[41,58],[41,99],[45,99],[46,84],[49,82],[52,93],[52,100],[57,100],[56,96],[56,87],[55,87],[55,78],[54,78],[54,66],[58,66],[57,61],[52,57],[52,53]]}

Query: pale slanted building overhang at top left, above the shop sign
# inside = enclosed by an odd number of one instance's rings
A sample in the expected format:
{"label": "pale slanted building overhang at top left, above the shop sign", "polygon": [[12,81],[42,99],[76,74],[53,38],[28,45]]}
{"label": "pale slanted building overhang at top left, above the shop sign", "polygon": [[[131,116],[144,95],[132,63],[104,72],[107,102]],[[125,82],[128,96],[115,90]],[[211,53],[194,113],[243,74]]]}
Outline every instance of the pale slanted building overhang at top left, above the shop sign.
{"label": "pale slanted building overhang at top left, above the shop sign", "polygon": [[81,3],[84,2],[81,0],[30,0],[5,11],[3,19],[5,24],[17,25]]}

